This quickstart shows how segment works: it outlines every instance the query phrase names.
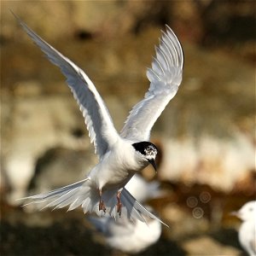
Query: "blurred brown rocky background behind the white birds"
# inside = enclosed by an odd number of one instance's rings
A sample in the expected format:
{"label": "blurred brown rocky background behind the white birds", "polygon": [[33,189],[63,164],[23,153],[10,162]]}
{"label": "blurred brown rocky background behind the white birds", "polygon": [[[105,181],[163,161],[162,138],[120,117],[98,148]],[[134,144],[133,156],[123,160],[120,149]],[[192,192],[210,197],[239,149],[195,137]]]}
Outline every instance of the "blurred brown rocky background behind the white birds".
{"label": "blurred brown rocky background behind the white birds", "polygon": [[81,209],[34,212],[15,201],[76,182],[97,160],[64,77],[9,10],[84,69],[118,130],[171,26],[183,83],[152,131],[159,172],[142,173],[160,182],[149,204],[170,229],[140,255],[242,255],[229,212],[255,199],[255,2],[1,1],[1,253],[125,255]]}

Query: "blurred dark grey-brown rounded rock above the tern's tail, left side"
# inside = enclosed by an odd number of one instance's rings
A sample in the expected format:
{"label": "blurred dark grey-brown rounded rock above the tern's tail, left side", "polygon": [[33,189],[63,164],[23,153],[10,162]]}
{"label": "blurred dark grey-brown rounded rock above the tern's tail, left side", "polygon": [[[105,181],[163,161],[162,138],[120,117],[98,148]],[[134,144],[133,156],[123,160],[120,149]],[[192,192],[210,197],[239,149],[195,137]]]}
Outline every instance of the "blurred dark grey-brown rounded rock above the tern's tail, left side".
{"label": "blurred dark grey-brown rounded rock above the tern's tail, left side", "polygon": [[96,157],[90,149],[51,148],[38,158],[28,189],[40,194],[76,183],[95,165]]}

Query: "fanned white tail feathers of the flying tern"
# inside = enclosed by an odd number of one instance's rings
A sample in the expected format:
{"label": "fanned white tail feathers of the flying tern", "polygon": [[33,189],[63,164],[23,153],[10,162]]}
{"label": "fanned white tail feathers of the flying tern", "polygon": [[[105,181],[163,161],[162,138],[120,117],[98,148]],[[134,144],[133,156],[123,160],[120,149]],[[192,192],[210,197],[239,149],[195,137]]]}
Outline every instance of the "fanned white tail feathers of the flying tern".
{"label": "fanned white tail feathers of the flying tern", "polygon": [[[109,215],[113,218],[119,218],[117,212],[117,189],[108,189],[103,191],[102,200],[106,207],[106,213],[99,210],[99,194],[98,190],[90,182],[90,178],[85,178],[78,183],[73,183],[61,189],[55,189],[45,194],[32,195],[23,200],[31,201],[32,203],[44,203],[44,208],[53,207],[57,208],[69,206],[67,211],[81,206],[84,214],[86,212],[95,212],[98,216]],[[128,218],[131,220],[138,219],[142,222],[147,222],[146,218],[154,218],[164,224],[160,218],[154,216],[153,213],[148,212],[131,194],[127,189],[123,189],[120,197],[122,203],[122,212],[120,218]],[[26,205],[28,205],[26,204]],[[24,206],[26,206],[24,205]],[[166,224],[165,224],[166,225]],[[167,226],[167,225],[166,225]]]}

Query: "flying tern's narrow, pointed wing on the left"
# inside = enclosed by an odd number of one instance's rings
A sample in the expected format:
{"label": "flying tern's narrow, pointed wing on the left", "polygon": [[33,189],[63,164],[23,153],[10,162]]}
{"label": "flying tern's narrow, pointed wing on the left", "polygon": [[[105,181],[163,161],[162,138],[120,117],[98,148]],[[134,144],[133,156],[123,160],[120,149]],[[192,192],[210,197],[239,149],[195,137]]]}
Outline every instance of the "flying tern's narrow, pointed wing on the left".
{"label": "flying tern's narrow, pointed wing on the left", "polygon": [[26,26],[26,23],[20,20],[19,17],[16,15],[15,17],[34,43],[48,57],[49,61],[60,67],[61,72],[66,76],[67,84],[83,113],[84,121],[89,131],[90,142],[94,143],[96,154],[101,158],[108,151],[108,148],[119,139],[119,134],[113,126],[108,108],[105,106],[96,87],[84,71],[76,66],[73,61],[61,55],[59,51]]}

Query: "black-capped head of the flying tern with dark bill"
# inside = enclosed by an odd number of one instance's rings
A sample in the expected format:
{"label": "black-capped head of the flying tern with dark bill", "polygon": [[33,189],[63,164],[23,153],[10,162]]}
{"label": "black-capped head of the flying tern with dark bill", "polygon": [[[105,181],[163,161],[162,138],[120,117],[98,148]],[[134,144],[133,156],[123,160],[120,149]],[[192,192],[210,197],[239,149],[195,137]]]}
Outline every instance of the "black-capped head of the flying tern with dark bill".
{"label": "black-capped head of the flying tern with dark bill", "polygon": [[135,148],[136,152],[140,155],[140,158],[145,163],[150,163],[154,167],[154,171],[157,172],[154,162],[157,154],[157,148],[155,147],[155,145],[149,142],[141,142],[133,143],[132,147]]}

